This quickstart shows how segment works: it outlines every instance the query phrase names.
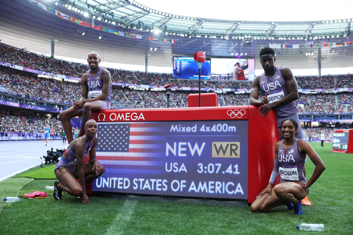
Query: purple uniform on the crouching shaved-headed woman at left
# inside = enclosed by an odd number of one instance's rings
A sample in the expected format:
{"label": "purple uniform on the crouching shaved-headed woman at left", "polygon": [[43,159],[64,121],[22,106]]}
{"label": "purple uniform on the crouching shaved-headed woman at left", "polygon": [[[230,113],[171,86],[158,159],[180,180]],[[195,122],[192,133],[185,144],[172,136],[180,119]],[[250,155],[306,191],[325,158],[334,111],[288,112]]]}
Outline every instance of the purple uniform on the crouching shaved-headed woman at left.
{"label": "purple uniform on the crouching shaved-headed woman at left", "polygon": [[[83,153],[83,158],[85,158],[92,148],[93,139],[87,143],[86,136],[84,135],[83,137],[85,138],[85,151]],[[67,160],[64,159],[64,157],[61,157],[60,161],[55,166],[54,173],[57,169],[59,169],[59,167],[62,167],[62,166],[66,166],[70,170],[71,173],[73,173],[75,171],[75,169],[77,167],[76,152],[71,150],[71,144],[72,144],[72,142],[69,144],[69,146],[67,147],[67,149],[65,151],[66,156],[67,156]]]}

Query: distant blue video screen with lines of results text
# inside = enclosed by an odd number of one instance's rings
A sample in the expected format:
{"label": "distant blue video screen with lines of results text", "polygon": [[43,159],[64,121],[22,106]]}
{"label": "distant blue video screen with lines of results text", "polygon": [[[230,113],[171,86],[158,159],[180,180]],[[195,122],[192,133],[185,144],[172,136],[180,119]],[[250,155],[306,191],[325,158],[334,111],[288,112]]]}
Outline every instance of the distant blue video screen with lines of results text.
{"label": "distant blue video screen with lines of results text", "polygon": [[[173,57],[173,77],[180,79],[199,79],[199,70],[193,57]],[[206,62],[201,66],[201,79],[211,78],[211,59],[206,58]]]}

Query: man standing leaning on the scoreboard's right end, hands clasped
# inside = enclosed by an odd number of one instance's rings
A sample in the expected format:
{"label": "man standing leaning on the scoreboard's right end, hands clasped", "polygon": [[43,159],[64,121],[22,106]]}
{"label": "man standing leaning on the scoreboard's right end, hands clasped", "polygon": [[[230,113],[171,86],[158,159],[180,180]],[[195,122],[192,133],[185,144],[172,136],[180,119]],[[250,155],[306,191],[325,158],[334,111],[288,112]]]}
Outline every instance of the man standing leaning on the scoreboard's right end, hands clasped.
{"label": "man standing leaning on the scoreboard's right end, hands clasped", "polygon": [[[303,139],[298,109],[294,102],[299,97],[297,81],[290,68],[276,67],[275,61],[275,51],[272,48],[265,47],[261,49],[260,63],[264,73],[256,76],[252,81],[249,103],[256,106],[263,105],[260,108],[260,115],[262,114],[263,117],[271,109],[274,109],[280,140],[284,139],[281,132],[281,123],[288,118],[294,119],[299,124],[295,138]],[[263,95],[261,100],[258,100],[259,91]]]}

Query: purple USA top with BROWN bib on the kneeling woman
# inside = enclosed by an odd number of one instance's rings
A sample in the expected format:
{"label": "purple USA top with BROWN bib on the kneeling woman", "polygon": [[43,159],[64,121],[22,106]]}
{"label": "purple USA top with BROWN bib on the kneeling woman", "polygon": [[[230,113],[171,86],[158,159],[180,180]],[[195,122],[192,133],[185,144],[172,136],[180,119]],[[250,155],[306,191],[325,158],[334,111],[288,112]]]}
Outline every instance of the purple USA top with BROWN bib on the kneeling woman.
{"label": "purple USA top with BROWN bib on the kneeling woman", "polygon": [[269,182],[272,184],[281,175],[281,183],[293,182],[299,180],[301,172],[303,172],[306,159],[301,157],[298,150],[298,138],[295,138],[294,144],[291,148],[283,148],[283,141],[278,148],[278,158],[275,158],[275,166],[273,168]]}

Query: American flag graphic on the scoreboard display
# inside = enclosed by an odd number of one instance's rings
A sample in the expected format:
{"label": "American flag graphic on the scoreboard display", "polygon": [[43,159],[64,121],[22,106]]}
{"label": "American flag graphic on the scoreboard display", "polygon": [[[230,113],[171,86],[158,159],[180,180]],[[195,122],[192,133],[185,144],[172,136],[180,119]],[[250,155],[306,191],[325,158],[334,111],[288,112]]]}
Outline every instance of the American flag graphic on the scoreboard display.
{"label": "American flag graphic on the scoreboard display", "polygon": [[155,123],[152,125],[151,122],[98,123],[96,160],[115,172],[138,169],[139,173],[158,173],[156,166],[162,166],[158,153],[163,151],[158,142],[163,136],[158,135],[161,129]]}

